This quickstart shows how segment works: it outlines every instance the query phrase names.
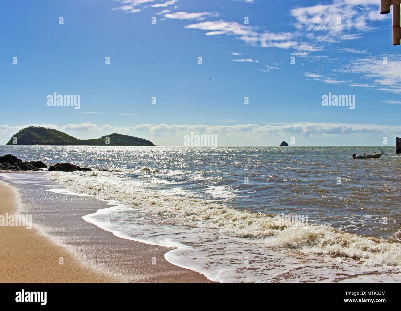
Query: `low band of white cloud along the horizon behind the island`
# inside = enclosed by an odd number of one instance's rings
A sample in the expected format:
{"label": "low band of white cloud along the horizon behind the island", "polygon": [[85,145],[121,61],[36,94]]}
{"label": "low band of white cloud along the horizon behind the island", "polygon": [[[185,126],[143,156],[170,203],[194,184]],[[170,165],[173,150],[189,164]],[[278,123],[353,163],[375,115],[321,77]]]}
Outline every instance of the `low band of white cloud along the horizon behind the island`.
{"label": "low band of white cloud along the horizon behind the island", "polygon": [[[106,125],[96,125],[85,122],[81,124],[66,124],[63,126],[54,124],[30,124],[21,126],[0,125],[0,137],[8,141],[11,135],[20,129],[28,126],[43,126],[51,129],[64,131],[77,138],[89,137],[98,138],[111,133],[123,133],[127,135],[144,137],[151,139],[156,145],[163,145],[166,139],[182,145],[184,136],[188,133],[198,135],[217,135],[222,140],[223,145],[238,145],[240,139],[247,139],[254,143],[248,145],[276,145],[279,139],[290,141],[292,137],[297,137],[302,142],[307,138],[312,138],[315,143],[310,145],[335,145],[332,143],[336,135],[347,135],[345,145],[354,145],[354,141],[365,141],[366,134],[374,137],[375,145],[381,145],[383,136],[393,137],[389,145],[395,145],[396,133],[401,131],[401,125],[383,126],[380,124],[341,124],[341,123],[295,123],[295,124],[239,124],[239,125],[167,125],[167,124],[141,124],[132,127],[119,127]],[[89,136],[88,136],[89,134]],[[266,137],[269,139],[266,140]],[[280,138],[281,137],[281,138]],[[263,142],[263,143],[261,143]],[[326,143],[322,143],[326,142]],[[278,142],[279,143],[279,142]]]}

